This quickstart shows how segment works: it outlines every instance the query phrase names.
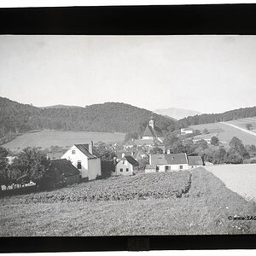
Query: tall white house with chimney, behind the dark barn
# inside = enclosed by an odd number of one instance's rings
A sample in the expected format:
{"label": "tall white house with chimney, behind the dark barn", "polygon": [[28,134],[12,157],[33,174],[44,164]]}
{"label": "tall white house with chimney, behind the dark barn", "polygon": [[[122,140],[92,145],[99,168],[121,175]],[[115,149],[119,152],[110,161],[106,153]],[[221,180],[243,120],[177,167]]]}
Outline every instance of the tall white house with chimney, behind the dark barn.
{"label": "tall white house with chimney, behind the dark barn", "polygon": [[102,175],[100,158],[92,154],[93,143],[74,144],[61,159],[70,160],[79,169],[83,181],[96,179]]}

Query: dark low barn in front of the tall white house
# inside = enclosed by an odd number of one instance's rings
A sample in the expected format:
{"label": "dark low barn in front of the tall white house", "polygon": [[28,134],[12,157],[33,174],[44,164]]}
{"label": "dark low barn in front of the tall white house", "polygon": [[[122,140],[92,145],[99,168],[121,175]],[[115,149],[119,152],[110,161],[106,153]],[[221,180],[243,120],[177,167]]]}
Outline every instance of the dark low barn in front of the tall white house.
{"label": "dark low barn in front of the tall white house", "polygon": [[81,181],[80,172],[66,159],[51,160],[49,171],[51,177],[41,184],[44,189],[55,189]]}

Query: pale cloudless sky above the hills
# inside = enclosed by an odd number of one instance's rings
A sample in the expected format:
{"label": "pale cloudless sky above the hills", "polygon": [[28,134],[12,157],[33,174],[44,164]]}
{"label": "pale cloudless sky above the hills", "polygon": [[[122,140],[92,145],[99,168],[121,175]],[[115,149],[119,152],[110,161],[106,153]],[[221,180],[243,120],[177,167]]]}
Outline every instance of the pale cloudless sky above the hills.
{"label": "pale cloudless sky above the hills", "polygon": [[256,105],[256,36],[0,36],[0,96],[37,107]]}

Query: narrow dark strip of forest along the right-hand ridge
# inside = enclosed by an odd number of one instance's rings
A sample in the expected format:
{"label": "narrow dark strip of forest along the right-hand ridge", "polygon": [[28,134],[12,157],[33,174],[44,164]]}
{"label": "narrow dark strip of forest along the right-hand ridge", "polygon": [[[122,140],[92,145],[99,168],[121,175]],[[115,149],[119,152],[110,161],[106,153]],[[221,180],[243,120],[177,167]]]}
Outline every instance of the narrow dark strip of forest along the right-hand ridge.
{"label": "narrow dark strip of forest along the right-hand ridge", "polygon": [[181,127],[188,127],[189,125],[201,125],[217,122],[226,122],[235,119],[243,119],[247,117],[256,116],[256,107],[239,108],[230,110],[224,113],[203,113],[201,115],[189,116],[178,120]]}

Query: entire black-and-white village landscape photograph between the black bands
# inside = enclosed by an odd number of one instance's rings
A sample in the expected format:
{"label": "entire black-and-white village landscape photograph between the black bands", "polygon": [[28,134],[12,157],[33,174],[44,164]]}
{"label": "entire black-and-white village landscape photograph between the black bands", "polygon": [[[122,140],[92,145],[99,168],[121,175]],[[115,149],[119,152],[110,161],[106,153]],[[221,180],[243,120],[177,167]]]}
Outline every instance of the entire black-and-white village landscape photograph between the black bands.
{"label": "entire black-and-white village landscape photograph between the black bands", "polygon": [[255,45],[1,35],[0,236],[255,234]]}

